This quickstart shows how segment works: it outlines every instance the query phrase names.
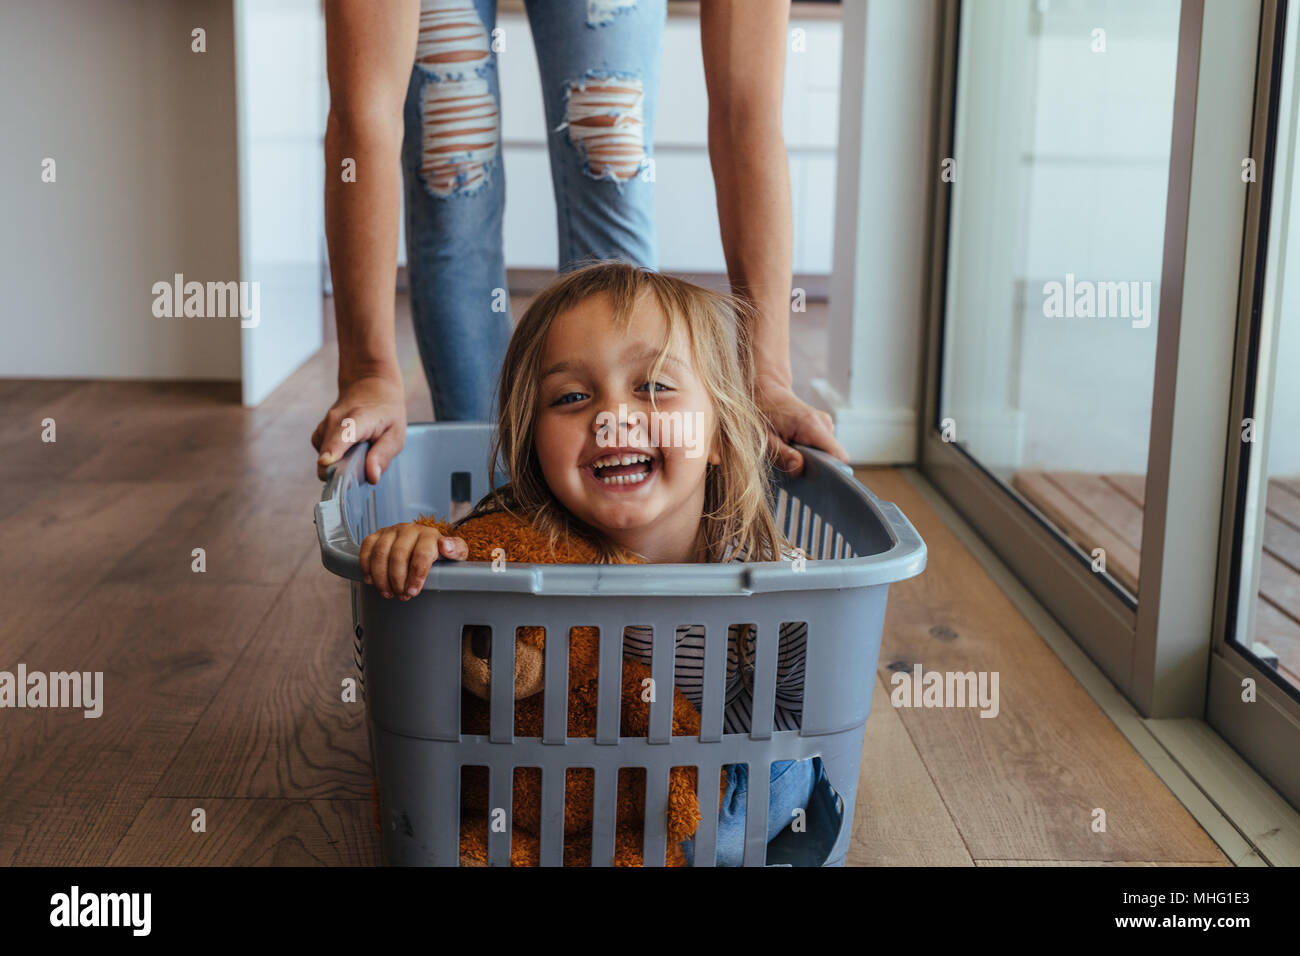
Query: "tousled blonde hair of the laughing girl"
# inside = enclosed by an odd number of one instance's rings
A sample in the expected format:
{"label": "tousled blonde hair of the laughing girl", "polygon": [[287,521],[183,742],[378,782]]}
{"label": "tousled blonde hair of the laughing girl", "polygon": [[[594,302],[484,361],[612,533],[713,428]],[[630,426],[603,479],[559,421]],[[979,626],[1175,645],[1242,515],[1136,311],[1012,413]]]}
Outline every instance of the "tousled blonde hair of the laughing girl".
{"label": "tousled blonde hair of the laughing girl", "polygon": [[[619,329],[628,326],[642,297],[659,306],[668,323],[668,338],[655,359],[651,380],[679,332],[690,343],[699,381],[712,399],[722,457],[719,464],[707,467],[705,480],[701,533],[707,559],[722,561],[728,545],[734,545],[746,561],[780,561],[788,541],[772,519],[772,449],[767,419],[754,401],[751,307],[736,297],[621,261],[597,261],[560,276],[524,312],[500,371],[498,427],[489,457],[491,490],[460,520],[508,511],[530,520],[549,536],[552,548],[563,536],[578,535],[597,549],[601,563],[629,558],[560,505],[542,476],[536,450],[546,334],[558,316],[593,295],[608,298]],[[654,392],[650,394],[653,402]],[[510,477],[500,486],[493,468],[498,460]]]}

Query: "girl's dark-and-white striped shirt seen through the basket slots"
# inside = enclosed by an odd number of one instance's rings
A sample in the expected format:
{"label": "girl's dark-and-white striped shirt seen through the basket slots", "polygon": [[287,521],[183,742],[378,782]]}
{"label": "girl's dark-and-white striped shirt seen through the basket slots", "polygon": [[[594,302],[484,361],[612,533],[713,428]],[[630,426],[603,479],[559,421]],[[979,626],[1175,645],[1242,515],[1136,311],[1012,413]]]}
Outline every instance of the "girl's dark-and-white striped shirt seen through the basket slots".
{"label": "girl's dark-and-white striped shirt seen through the basket slots", "polygon": [[[794,561],[794,551],[785,549],[783,559]],[[744,561],[728,548],[723,561]],[[745,639],[740,640],[741,631]],[[781,624],[776,650],[776,709],[772,730],[798,730],[803,713],[803,652],[807,646],[807,623]],[[628,624],[623,630],[624,658],[651,662],[653,631],[645,624]],[[751,627],[732,624],[727,635],[727,683],[723,709],[723,734],[748,734],[754,711],[755,633]],[[682,624],[677,628],[673,656],[673,682],[696,705],[705,704],[705,628]]]}

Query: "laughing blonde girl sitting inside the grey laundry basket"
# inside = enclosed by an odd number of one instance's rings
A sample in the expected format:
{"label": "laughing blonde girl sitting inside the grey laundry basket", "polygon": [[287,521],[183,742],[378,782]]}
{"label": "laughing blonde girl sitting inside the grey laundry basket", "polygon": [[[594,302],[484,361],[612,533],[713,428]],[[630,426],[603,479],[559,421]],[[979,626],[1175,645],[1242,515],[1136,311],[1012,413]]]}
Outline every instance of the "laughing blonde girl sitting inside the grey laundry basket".
{"label": "laughing blonde girl sitting inside the grey laundry basket", "polygon": [[[499,386],[491,460],[508,484],[462,520],[510,511],[552,544],[576,535],[603,563],[793,561],[772,519],[768,429],[754,402],[738,299],[623,263],[597,263],[542,290],[511,338]],[[654,438],[655,441],[651,441]],[[385,596],[410,600],[438,555],[463,558],[460,538],[396,524],[361,544],[361,572]],[[797,730],[806,627],[784,624],[774,730]],[[675,683],[703,700],[705,635],[677,628]],[[649,628],[628,627],[624,656],[646,663]],[[754,633],[728,639],[724,732],[750,728]],[[718,864],[738,865],[748,767],[729,765]],[[771,767],[768,839],[807,806],[822,760]],[[686,844],[688,860],[692,856]]]}

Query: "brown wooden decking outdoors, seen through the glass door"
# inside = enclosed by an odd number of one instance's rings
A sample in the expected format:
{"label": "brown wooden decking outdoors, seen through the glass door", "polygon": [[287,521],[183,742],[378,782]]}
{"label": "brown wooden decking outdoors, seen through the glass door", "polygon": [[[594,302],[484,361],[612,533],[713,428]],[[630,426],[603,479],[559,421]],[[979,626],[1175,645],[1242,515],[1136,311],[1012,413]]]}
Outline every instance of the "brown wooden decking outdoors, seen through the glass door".
{"label": "brown wooden decking outdoors, seen through the glass door", "polygon": [[[1011,486],[1061,532],[1092,553],[1130,593],[1139,588],[1144,475],[1022,471]],[[1300,479],[1269,479],[1253,640],[1278,656],[1278,671],[1300,687]]]}

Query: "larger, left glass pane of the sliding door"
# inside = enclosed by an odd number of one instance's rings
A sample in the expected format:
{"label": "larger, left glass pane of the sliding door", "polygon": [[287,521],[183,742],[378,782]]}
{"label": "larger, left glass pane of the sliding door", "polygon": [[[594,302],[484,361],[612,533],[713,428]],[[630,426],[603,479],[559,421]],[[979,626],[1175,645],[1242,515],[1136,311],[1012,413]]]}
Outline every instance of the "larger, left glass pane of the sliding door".
{"label": "larger, left glass pane of the sliding door", "polygon": [[962,4],[936,425],[1138,593],[1178,0]]}

